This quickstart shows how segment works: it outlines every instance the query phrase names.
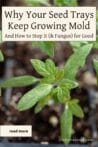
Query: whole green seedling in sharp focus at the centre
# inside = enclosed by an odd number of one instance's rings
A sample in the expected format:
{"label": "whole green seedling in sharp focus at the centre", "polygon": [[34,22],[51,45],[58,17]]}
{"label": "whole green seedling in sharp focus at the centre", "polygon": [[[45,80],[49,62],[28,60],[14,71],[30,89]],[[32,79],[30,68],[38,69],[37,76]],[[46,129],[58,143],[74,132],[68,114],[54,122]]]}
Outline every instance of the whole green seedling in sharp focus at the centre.
{"label": "whole green seedling in sharp focus at the centre", "polygon": [[72,134],[73,116],[83,118],[84,114],[76,98],[71,99],[70,91],[78,86],[75,76],[80,67],[85,64],[87,55],[93,44],[86,44],[70,56],[64,68],[58,68],[54,62],[47,59],[45,62],[32,59],[31,64],[42,78],[33,76],[15,77],[1,83],[1,88],[23,87],[36,83],[36,87],[21,97],[17,109],[24,111],[35,106],[38,113],[48,104],[50,99],[64,105],[64,112],[60,117],[61,139],[67,144]]}

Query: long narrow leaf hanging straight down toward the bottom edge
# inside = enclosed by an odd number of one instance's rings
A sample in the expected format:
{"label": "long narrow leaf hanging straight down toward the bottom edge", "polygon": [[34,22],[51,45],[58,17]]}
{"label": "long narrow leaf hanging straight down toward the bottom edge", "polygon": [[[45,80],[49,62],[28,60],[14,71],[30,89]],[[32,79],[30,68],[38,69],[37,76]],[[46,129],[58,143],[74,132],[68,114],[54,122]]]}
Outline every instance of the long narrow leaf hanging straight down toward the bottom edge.
{"label": "long narrow leaf hanging straight down toward the bottom edge", "polygon": [[66,108],[61,115],[61,139],[65,144],[68,144],[71,139],[72,134],[72,122],[73,116],[72,113],[66,104]]}

